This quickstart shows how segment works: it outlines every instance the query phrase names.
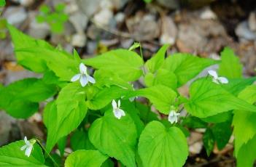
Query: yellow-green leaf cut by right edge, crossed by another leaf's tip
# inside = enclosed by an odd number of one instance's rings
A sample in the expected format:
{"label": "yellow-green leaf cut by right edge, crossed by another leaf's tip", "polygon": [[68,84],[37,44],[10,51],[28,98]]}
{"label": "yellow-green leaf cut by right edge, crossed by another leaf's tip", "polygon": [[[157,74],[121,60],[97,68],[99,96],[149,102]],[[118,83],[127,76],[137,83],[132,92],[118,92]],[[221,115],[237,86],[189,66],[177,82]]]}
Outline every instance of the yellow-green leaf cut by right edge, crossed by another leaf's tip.
{"label": "yellow-green leaf cut by right edge, crossed by another leaf's tip", "polygon": [[[249,103],[256,102],[256,86],[248,86],[238,95]],[[235,110],[233,117],[235,135],[235,155],[238,158],[238,166],[252,166],[255,160],[256,142],[256,113]],[[244,155],[246,153],[246,155]]]}

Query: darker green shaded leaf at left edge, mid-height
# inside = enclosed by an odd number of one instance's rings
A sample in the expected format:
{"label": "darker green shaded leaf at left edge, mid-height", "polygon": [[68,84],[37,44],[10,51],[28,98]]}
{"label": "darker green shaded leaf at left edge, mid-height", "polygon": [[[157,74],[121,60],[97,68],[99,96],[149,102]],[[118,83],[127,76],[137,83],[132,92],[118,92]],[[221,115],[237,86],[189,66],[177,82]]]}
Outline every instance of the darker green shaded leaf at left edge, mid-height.
{"label": "darker green shaded leaf at left edge, mid-height", "polygon": [[0,108],[16,118],[28,118],[38,110],[38,102],[57,92],[54,85],[41,79],[26,78],[4,87],[0,91]]}

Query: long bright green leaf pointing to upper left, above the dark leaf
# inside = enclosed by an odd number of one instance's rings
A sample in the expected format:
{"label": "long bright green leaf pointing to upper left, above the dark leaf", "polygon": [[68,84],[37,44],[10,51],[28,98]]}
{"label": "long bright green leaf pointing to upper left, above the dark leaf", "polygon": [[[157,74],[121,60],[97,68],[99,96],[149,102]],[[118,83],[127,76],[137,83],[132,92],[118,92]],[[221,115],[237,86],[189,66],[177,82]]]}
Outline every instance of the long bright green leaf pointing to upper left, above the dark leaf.
{"label": "long bright green leaf pointing to upper left, above the dark leaf", "polygon": [[8,25],[20,65],[36,73],[52,70],[61,81],[70,81],[79,72],[79,62],[70,54],[55,49],[42,40],[36,40]]}

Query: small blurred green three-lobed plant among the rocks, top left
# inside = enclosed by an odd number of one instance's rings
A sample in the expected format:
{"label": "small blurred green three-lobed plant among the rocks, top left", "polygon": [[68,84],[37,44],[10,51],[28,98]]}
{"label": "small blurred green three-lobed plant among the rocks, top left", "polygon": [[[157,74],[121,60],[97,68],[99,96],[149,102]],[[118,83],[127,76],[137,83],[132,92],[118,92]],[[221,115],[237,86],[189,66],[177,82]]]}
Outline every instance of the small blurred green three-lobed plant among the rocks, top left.
{"label": "small blurred green three-lobed plant among the rocks, top left", "polygon": [[51,11],[50,7],[44,4],[39,9],[40,13],[36,16],[36,21],[50,25],[53,33],[63,33],[64,24],[69,20],[69,15],[64,12],[65,8],[65,4],[57,4],[54,11]]}

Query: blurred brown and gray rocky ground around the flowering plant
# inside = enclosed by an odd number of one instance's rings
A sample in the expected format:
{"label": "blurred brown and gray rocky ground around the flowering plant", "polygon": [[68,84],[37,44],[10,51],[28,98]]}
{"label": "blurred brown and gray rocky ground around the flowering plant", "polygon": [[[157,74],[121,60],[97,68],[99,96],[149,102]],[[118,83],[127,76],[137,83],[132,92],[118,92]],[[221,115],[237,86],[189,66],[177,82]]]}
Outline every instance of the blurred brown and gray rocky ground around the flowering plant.
{"label": "blurred brown and gray rocky ground around the flowering plant", "polygon": [[[37,23],[36,15],[42,4],[53,8],[59,3],[66,4],[64,12],[69,20],[62,33],[53,33],[47,23]],[[219,60],[223,47],[230,46],[244,64],[244,76],[255,76],[253,0],[155,0],[149,4],[143,0],[7,0],[1,17],[34,38],[55,46],[61,44],[68,52],[75,48],[81,57],[129,48],[134,41],[140,41],[145,60],[166,43],[171,44],[169,54],[189,52]],[[8,34],[0,40],[0,83],[39,77],[16,64]],[[181,91],[186,93],[187,88]],[[28,120],[17,120],[0,112],[0,146],[25,135],[45,139],[45,132],[40,113]],[[208,158],[201,132],[191,132],[186,166],[235,166],[232,144],[224,150],[216,148]]]}

